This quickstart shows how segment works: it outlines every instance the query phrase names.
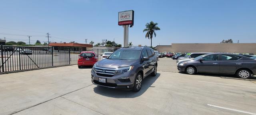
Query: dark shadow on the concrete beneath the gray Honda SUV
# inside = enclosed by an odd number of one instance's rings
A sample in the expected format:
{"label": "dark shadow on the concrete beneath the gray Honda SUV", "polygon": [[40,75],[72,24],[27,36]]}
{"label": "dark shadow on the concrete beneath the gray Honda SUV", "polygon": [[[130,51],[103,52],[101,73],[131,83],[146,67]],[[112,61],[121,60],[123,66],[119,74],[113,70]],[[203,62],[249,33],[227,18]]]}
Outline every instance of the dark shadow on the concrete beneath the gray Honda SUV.
{"label": "dark shadow on the concrete beneath the gray Honda SUV", "polygon": [[156,76],[148,76],[142,81],[142,87],[140,91],[138,92],[133,92],[133,91],[127,91],[127,90],[122,90],[122,89],[112,89],[112,88],[107,88],[107,87],[102,87],[102,86],[97,86],[94,87],[94,92],[103,96],[107,97],[113,97],[113,98],[134,98],[142,95],[149,87],[155,87],[151,86],[156,79],[160,77],[160,73],[157,73]]}

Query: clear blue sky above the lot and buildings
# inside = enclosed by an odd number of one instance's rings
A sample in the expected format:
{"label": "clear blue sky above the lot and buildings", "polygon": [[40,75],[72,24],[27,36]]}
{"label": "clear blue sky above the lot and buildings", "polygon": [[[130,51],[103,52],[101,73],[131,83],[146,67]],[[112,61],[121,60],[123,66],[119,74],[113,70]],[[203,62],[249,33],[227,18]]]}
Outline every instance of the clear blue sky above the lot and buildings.
{"label": "clear blue sky above the lot and buildings", "polygon": [[[256,0],[1,0],[0,38],[7,41],[51,42],[84,39],[123,44],[118,12],[134,10],[129,42],[150,46],[142,30],[150,21],[160,31],[153,46],[172,43],[219,43],[232,39],[256,42]],[[2,35],[22,34],[25,36]],[[41,37],[40,37],[41,36]]]}

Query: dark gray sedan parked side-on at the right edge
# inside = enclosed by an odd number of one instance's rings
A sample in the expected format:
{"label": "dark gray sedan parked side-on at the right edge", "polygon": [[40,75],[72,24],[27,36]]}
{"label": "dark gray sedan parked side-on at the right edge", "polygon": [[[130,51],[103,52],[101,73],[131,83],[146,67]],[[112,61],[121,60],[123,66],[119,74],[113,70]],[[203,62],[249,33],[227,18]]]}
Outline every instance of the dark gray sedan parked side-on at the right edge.
{"label": "dark gray sedan parked side-on at the right edge", "polygon": [[226,53],[205,54],[182,62],[177,67],[179,71],[185,71],[187,74],[197,72],[236,74],[240,78],[249,78],[256,74],[256,60]]}

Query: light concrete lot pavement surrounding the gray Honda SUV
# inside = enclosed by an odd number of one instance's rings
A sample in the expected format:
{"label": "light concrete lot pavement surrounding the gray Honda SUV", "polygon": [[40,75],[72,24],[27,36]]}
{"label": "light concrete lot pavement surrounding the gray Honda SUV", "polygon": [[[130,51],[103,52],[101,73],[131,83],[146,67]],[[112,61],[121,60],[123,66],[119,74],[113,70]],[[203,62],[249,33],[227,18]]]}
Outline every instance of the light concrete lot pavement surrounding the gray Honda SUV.
{"label": "light concrete lot pavement surrounding the gray Honda SUV", "polygon": [[142,89],[92,85],[77,65],[0,75],[0,115],[256,115],[256,81],[187,75],[160,58]]}

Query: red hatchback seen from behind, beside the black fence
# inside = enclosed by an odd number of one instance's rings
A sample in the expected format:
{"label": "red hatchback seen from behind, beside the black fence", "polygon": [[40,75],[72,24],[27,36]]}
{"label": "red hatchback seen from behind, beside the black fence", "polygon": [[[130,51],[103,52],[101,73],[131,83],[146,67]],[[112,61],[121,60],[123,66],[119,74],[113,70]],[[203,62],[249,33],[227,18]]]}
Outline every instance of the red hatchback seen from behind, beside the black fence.
{"label": "red hatchback seen from behind, beside the black fence", "polygon": [[98,61],[97,57],[94,52],[81,52],[77,61],[78,68],[81,68],[81,66],[94,65],[94,63]]}

